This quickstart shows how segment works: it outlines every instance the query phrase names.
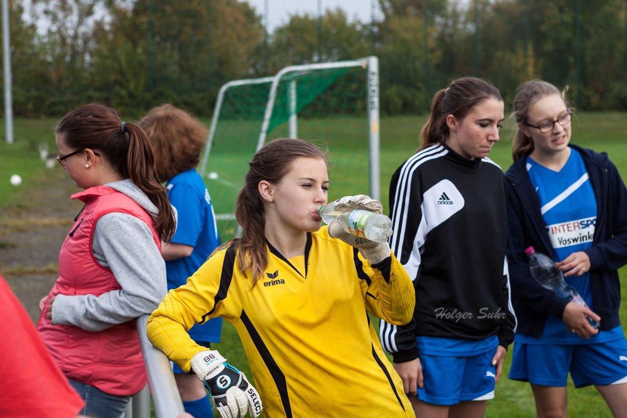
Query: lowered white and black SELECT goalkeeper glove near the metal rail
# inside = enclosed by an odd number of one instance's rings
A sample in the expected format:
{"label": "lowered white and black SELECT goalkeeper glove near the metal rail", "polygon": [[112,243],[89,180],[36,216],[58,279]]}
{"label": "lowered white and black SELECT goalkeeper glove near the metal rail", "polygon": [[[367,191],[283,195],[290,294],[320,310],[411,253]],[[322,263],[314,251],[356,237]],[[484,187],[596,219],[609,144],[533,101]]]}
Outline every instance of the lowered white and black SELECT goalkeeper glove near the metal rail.
{"label": "lowered white and black SELECT goalkeeper glove near the metal rail", "polygon": [[191,363],[222,418],[243,418],[246,412],[253,418],[261,414],[263,407],[256,389],[218,351],[199,352]]}

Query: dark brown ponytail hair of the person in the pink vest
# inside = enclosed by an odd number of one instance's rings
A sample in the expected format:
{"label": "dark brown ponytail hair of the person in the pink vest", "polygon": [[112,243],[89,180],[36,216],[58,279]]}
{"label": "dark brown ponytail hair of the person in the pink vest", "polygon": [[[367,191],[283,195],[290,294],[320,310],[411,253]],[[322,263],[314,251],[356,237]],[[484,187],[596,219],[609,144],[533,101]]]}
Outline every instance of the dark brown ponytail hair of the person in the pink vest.
{"label": "dark brown ponytail hair of the person in the pink vest", "polygon": [[124,122],[112,108],[98,103],[83,105],[61,118],[55,133],[68,147],[98,150],[122,177],[131,179],[150,199],[159,214],[155,229],[162,241],[170,241],[176,229],[166,188],[155,175],[154,158],[142,128]]}

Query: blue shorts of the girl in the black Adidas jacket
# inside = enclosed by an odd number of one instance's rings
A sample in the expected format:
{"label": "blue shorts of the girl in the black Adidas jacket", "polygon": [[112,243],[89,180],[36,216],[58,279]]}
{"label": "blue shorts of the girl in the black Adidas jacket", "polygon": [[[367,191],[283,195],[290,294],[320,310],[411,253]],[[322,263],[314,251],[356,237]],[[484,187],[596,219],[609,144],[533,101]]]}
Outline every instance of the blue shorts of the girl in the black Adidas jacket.
{"label": "blue shorts of the girl in the black Adidas jacket", "polygon": [[419,355],[424,385],[418,399],[429,404],[455,405],[465,400],[494,398],[496,350],[468,357]]}

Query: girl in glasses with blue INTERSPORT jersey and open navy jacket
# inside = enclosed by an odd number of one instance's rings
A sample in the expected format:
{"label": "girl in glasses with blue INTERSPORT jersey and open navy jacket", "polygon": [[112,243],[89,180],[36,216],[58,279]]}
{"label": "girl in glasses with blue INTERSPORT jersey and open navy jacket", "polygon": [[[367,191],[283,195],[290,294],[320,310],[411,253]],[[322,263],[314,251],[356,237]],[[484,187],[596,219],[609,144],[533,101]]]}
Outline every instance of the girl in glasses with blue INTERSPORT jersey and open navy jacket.
{"label": "girl in glasses with blue INTERSPORT jersey and open navy jacket", "polygon": [[[539,417],[566,417],[569,372],[575,387],[595,385],[624,417],[627,342],[616,270],[627,263],[627,189],[607,154],[571,144],[572,110],[556,86],[522,85],[514,116],[507,256],[519,327],[509,377],[530,382]],[[556,261],[589,308],[535,282],[529,246]]]}

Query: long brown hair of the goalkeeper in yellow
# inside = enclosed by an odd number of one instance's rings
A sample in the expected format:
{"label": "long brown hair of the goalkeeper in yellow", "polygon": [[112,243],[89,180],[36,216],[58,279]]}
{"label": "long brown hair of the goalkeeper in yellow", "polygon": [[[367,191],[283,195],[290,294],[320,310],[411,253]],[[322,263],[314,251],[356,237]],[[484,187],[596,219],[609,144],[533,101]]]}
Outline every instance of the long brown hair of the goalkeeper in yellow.
{"label": "long brown hair of the goalkeeper in yellow", "polygon": [[259,182],[266,180],[277,184],[292,169],[300,157],[322,159],[327,167],[327,150],[300,139],[280,138],[269,142],[256,152],[248,165],[244,187],[235,204],[235,217],[242,229],[241,238],[233,238],[214,250],[228,246],[238,249],[238,266],[241,271],[251,271],[253,286],[263,277],[268,265],[265,237],[265,205],[259,194]]}

